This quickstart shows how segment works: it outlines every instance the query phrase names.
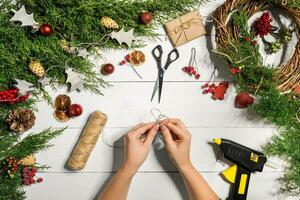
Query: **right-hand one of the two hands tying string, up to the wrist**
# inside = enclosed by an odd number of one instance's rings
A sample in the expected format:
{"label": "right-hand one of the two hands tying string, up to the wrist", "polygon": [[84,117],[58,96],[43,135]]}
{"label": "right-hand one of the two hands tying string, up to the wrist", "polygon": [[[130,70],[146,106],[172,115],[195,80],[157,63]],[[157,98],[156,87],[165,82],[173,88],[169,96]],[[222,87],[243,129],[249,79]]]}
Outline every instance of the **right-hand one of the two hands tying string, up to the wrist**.
{"label": "right-hand one of the two hands tying string, up to the wrist", "polygon": [[168,155],[177,168],[191,166],[191,134],[179,119],[164,120],[160,126]]}

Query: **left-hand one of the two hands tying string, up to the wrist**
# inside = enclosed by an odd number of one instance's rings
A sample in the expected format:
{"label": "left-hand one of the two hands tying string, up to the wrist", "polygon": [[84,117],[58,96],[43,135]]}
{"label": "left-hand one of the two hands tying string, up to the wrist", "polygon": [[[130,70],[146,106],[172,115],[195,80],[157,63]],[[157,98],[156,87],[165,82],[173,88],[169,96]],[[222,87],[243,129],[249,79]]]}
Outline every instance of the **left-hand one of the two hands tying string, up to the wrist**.
{"label": "left-hand one of the two hands tying string, up to the wrist", "polygon": [[139,124],[125,135],[123,168],[133,174],[137,172],[146,160],[158,130],[159,126],[155,123]]}

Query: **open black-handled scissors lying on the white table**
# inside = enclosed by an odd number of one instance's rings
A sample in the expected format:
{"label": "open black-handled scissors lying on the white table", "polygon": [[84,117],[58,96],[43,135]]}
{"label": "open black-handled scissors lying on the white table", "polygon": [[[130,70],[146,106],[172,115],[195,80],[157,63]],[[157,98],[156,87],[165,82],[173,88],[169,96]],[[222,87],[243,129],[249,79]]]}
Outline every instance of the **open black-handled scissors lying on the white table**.
{"label": "open black-handled scissors lying on the white table", "polygon": [[[173,54],[175,55],[174,58],[172,58]],[[154,86],[153,93],[151,96],[151,101],[153,100],[153,98],[158,90],[158,103],[160,103],[162,86],[163,86],[163,82],[164,82],[164,74],[167,71],[167,69],[170,67],[170,65],[179,58],[179,52],[177,49],[173,49],[172,51],[170,51],[168,54],[167,62],[164,67],[162,67],[163,49],[162,49],[161,45],[157,45],[152,50],[152,55],[157,63],[158,76],[157,76],[157,80],[155,82],[155,86]]]}

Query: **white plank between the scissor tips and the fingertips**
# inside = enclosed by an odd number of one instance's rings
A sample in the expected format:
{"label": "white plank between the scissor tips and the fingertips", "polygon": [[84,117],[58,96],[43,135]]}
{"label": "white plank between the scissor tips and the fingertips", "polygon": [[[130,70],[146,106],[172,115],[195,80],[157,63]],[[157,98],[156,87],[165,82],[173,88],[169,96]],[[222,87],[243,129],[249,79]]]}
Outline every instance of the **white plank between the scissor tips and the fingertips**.
{"label": "white plank between the scissor tips and the fingertips", "polygon": [[[231,85],[223,101],[214,101],[203,95],[201,84],[193,82],[166,82],[162,100],[150,102],[154,83],[114,83],[105,89],[104,96],[88,92],[70,94],[73,103],[83,106],[82,116],[68,123],[53,118],[53,109],[46,102],[38,103],[37,127],[83,127],[90,113],[101,110],[109,117],[108,127],[132,127],[140,122],[153,121],[150,110],[159,108],[169,117],[181,118],[189,127],[267,127],[263,120],[251,115],[247,109],[234,108],[236,95]],[[51,92],[55,98],[64,90]]]}

